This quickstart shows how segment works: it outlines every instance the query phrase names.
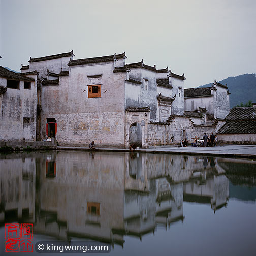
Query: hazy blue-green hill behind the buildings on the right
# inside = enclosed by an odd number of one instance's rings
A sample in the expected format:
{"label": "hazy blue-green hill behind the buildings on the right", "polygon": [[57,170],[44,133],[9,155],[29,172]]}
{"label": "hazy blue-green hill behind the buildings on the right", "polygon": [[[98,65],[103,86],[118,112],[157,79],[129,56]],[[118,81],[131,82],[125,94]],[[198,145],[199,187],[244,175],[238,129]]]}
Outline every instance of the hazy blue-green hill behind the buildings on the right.
{"label": "hazy blue-green hill behind the buildings on the right", "polygon": [[[230,108],[233,108],[241,102],[256,102],[256,74],[244,74],[236,77],[228,77],[221,81],[221,84],[227,84],[230,95]],[[211,87],[212,83],[199,87]]]}

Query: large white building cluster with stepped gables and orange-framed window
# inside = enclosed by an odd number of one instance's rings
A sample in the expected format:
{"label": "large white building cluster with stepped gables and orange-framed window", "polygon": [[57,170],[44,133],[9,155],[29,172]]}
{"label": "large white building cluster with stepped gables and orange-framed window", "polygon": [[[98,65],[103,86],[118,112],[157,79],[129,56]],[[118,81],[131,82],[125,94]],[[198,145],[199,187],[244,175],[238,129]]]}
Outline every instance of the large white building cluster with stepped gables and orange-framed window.
{"label": "large white building cluster with stepped gables and orange-framed window", "polygon": [[229,93],[219,83],[207,89],[206,100],[190,99],[184,94],[190,90],[184,90],[184,74],[168,67],[156,69],[143,60],[126,64],[125,52],[73,57],[73,51],[30,57],[21,67],[39,73],[38,140],[51,136],[60,145],[77,146],[94,140],[98,147],[121,148],[169,145],[215,132],[215,119],[225,117]]}

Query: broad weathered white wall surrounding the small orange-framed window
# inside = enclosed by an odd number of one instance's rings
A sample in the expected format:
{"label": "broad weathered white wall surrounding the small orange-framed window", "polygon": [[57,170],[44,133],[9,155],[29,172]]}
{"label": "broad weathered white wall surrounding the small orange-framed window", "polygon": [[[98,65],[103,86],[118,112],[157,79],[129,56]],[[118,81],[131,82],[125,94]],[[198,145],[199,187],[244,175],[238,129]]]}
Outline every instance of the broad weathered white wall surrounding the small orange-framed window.
{"label": "broad weathered white wall surrounding the small orange-framed window", "polygon": [[[101,97],[88,98],[87,75],[101,75]],[[57,120],[60,145],[97,147],[124,146],[124,80],[126,73],[113,73],[113,62],[71,66],[69,76],[60,77],[59,85],[42,87],[42,127],[46,119]]]}

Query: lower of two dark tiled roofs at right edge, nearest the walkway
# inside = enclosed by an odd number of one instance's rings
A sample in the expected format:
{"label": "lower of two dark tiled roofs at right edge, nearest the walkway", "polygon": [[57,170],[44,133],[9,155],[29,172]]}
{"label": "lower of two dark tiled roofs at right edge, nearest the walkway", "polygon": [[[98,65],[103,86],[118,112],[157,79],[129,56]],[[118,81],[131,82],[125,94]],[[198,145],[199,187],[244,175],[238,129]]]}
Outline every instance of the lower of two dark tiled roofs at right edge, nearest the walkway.
{"label": "lower of two dark tiled roofs at right edge, nearest the walkway", "polygon": [[256,134],[256,120],[227,121],[217,134]]}

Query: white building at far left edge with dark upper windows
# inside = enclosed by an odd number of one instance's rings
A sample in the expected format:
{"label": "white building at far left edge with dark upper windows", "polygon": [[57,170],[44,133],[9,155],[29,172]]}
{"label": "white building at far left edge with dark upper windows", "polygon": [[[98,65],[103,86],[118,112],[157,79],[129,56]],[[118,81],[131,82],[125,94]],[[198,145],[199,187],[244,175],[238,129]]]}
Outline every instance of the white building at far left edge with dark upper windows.
{"label": "white building at far left edge with dark upper windows", "polygon": [[0,66],[0,141],[36,141],[37,73]]}

